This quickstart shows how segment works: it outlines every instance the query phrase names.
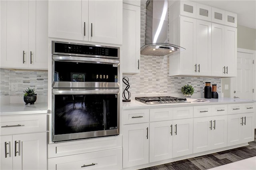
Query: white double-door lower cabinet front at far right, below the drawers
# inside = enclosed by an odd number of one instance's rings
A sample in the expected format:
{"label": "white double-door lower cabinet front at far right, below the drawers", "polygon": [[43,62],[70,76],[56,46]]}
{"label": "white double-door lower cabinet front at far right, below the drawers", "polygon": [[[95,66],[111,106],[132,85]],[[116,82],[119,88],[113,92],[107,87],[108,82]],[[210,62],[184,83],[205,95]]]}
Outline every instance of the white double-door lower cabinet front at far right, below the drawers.
{"label": "white double-door lower cabinet front at far right, below the drawers", "polygon": [[254,140],[254,115],[255,113],[228,115],[228,146]]}

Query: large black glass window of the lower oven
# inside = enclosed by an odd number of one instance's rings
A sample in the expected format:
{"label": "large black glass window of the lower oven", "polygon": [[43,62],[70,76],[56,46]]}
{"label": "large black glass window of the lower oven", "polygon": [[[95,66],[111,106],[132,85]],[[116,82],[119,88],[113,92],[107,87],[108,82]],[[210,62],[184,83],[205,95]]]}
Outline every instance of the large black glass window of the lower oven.
{"label": "large black glass window of the lower oven", "polygon": [[115,94],[54,95],[54,134],[117,129]]}

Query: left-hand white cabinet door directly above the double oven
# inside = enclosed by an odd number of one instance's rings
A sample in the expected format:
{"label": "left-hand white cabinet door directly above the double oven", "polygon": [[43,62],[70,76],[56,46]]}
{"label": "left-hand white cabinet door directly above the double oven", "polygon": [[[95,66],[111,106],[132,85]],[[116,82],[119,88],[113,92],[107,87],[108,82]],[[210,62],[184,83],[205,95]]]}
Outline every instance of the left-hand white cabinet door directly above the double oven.
{"label": "left-hand white cabinet door directly above the double oven", "polygon": [[88,0],[49,1],[49,37],[88,41]]}

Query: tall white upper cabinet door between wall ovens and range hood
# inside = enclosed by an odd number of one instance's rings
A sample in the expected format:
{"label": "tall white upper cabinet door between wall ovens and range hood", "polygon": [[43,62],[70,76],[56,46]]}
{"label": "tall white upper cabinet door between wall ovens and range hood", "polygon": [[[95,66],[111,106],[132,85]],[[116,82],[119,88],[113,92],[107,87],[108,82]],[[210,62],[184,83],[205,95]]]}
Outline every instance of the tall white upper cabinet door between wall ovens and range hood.
{"label": "tall white upper cabinet door between wall ovens and range hood", "polygon": [[123,4],[124,73],[140,72],[140,7]]}

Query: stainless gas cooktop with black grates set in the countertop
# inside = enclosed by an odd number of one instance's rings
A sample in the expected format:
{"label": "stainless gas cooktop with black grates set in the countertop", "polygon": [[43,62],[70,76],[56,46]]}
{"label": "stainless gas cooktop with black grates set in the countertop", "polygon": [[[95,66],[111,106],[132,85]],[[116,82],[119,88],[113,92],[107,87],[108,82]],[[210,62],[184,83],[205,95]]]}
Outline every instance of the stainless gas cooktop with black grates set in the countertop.
{"label": "stainless gas cooktop with black grates set in the countertop", "polygon": [[171,97],[171,96],[135,97],[135,100],[145,103],[147,105],[190,103],[184,98]]}

